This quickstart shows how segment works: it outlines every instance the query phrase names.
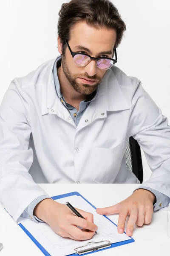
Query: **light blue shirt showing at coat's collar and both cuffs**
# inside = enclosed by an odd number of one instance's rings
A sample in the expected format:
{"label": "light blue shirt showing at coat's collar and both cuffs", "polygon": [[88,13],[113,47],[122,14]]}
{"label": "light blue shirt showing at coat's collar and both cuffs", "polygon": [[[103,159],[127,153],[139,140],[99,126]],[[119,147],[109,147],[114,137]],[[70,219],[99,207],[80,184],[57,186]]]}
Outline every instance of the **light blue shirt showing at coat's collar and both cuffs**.
{"label": "light blue shirt showing at coat's collar and both cuffs", "polygon": [[[55,64],[54,64],[54,68],[53,68],[53,76],[54,76],[54,83],[55,83],[55,87],[56,87],[56,92],[57,92],[57,96],[59,97],[59,99],[61,100],[61,102],[63,103],[63,105],[65,106],[65,108],[68,109],[72,119],[74,120],[76,126],[79,124],[79,120],[81,119],[83,113],[85,112],[85,110],[87,109],[88,105],[90,104],[90,102],[94,101],[94,99],[96,98],[96,95],[98,93],[98,88],[96,89],[96,91],[94,93],[92,93],[89,97],[88,100],[82,101],[80,102],[79,105],[79,111],[77,111],[76,108],[74,108],[73,106],[71,106],[70,104],[68,104],[67,102],[65,102],[64,97],[62,96],[61,90],[60,90],[60,85],[59,85],[59,79],[57,76],[57,67],[59,67],[61,65],[61,58],[59,58]],[[162,194],[161,192],[158,192],[155,189],[151,189],[145,186],[140,186],[140,189],[147,189],[150,192],[152,192],[155,196],[156,196],[156,203],[154,204],[153,208],[154,211],[161,209],[163,207],[166,207],[169,203],[170,203],[170,198],[167,195]],[[31,204],[29,204],[29,206],[23,211],[22,213],[22,217],[24,218],[29,218],[33,221],[41,221],[40,219],[38,219],[36,216],[33,215],[34,212],[34,208],[36,207],[36,205],[38,203],[40,203],[40,201],[46,199],[46,198],[50,198],[46,195],[42,195],[38,198],[36,198]]]}

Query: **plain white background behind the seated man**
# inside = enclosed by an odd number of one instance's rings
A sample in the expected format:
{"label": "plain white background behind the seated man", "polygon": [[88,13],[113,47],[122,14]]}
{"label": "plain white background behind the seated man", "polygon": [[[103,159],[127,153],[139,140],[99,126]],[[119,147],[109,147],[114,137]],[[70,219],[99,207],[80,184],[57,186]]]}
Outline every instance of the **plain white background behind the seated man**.
{"label": "plain white background behind the seated man", "polygon": [[[61,0],[0,1],[0,102],[10,81],[55,58]],[[127,75],[138,77],[170,120],[170,1],[112,0],[127,31],[117,49]],[[142,152],[144,180],[150,177]]]}

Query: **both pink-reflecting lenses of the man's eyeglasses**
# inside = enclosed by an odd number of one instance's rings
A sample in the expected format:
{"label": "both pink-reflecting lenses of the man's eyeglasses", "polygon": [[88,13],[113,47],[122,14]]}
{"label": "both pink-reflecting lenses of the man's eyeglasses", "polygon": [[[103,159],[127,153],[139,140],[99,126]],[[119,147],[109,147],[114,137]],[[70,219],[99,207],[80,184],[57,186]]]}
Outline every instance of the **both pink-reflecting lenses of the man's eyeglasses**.
{"label": "both pink-reflecting lenses of the man's eyeglasses", "polygon": [[[74,63],[78,66],[85,66],[91,61],[91,59],[88,56],[83,55],[83,54],[75,55],[73,60],[74,60]],[[97,67],[99,67],[99,69],[105,70],[105,69],[108,69],[112,66],[113,66],[113,61],[112,60],[103,58],[103,59],[99,59],[97,61]]]}

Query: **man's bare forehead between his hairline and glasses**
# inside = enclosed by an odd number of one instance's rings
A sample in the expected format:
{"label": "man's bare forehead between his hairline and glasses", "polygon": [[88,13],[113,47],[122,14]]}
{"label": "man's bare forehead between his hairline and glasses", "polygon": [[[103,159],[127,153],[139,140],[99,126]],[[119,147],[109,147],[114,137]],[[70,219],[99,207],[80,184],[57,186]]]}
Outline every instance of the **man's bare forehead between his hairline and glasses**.
{"label": "man's bare forehead between his hairline and glasses", "polygon": [[85,21],[76,23],[70,31],[72,46],[83,45],[93,52],[112,50],[116,41],[114,29],[96,29]]}

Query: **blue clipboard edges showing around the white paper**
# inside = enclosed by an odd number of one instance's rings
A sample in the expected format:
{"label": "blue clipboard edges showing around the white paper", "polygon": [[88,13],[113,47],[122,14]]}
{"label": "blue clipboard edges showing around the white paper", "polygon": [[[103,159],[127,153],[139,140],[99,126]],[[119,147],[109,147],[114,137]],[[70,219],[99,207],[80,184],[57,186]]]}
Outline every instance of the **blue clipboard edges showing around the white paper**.
{"label": "blue clipboard edges showing around the white paper", "polygon": [[[65,198],[65,197],[68,197],[68,196],[72,196],[72,195],[77,195],[77,196],[80,196],[81,198],[83,198],[86,202],[88,202],[88,204],[90,204],[92,207],[94,207],[94,209],[96,209],[96,207],[91,204],[87,199],[85,199],[82,195],[79,194],[79,192],[71,192],[71,193],[67,193],[67,194],[62,194],[62,195],[56,195],[56,196],[52,196],[51,198],[56,200],[56,199],[60,199],[60,198]],[[111,219],[109,219],[106,215],[103,215],[105,218],[107,218],[109,221],[111,221]],[[116,227],[117,225],[111,221]],[[31,235],[31,233],[20,223],[18,224],[22,229],[23,231],[29,236],[29,238],[31,238],[31,240],[34,242],[34,244],[37,245],[37,247],[42,251],[42,253],[44,253],[45,256],[51,256],[46,250],[45,248],[34,238],[34,236]],[[125,233],[125,232],[124,232]],[[88,255],[90,253],[95,253],[95,252],[98,252],[98,251],[101,251],[101,250],[107,250],[109,248],[113,248],[113,247],[117,247],[117,246],[120,246],[120,245],[123,245],[123,244],[129,244],[129,243],[133,243],[135,240],[130,236],[130,240],[126,240],[126,241],[122,241],[122,242],[118,242],[118,243],[113,243],[111,244],[110,247],[107,247],[107,248],[103,248],[103,249],[99,249],[99,250],[95,250],[95,251],[92,251],[92,252],[89,252],[89,253],[83,253],[83,256],[84,255]],[[85,241],[86,243],[86,241]],[[72,253],[72,254],[69,254],[67,256],[78,256],[77,253]]]}

